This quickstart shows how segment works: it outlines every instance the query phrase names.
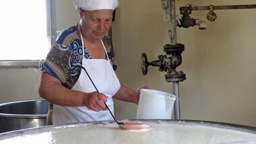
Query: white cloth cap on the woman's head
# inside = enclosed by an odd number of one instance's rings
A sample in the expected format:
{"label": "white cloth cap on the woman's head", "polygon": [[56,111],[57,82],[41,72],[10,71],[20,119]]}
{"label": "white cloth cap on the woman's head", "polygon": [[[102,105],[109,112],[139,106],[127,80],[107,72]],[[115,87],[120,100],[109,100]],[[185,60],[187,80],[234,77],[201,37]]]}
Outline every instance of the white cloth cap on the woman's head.
{"label": "white cloth cap on the woman's head", "polygon": [[112,9],[118,7],[118,0],[73,0],[75,9],[83,9],[85,11],[94,11],[98,9]]}

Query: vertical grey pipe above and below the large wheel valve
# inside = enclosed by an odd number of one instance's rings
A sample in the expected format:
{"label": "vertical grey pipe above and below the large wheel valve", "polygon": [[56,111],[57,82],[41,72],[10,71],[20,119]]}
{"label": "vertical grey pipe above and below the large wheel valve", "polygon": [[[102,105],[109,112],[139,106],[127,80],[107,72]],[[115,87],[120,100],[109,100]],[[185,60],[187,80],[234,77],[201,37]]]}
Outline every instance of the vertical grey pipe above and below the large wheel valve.
{"label": "vertical grey pipe above and below the large wheel valve", "polygon": [[[170,44],[177,44],[177,22],[175,0],[170,0]],[[181,119],[180,115],[180,100],[179,100],[179,81],[172,81],[172,93],[177,97],[174,102],[174,119]]]}

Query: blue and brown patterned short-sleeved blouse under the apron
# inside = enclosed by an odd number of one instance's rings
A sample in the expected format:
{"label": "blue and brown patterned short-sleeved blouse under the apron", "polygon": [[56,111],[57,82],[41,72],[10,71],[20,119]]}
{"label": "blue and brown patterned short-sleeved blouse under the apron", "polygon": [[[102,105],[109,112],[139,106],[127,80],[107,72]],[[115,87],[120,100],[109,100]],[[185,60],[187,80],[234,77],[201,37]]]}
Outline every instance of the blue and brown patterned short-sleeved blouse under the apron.
{"label": "blue and brown patterned short-sleeved blouse under the apron", "polygon": [[[77,65],[82,65],[83,59],[82,40],[78,36],[77,26],[78,24],[66,28],[59,34],[41,68],[42,72],[53,75],[62,82],[63,86],[69,89],[75,85],[80,75],[81,68]],[[110,62],[113,67],[116,67],[110,37],[104,36],[102,42]],[[86,47],[84,47],[84,57],[85,59],[91,59]]]}

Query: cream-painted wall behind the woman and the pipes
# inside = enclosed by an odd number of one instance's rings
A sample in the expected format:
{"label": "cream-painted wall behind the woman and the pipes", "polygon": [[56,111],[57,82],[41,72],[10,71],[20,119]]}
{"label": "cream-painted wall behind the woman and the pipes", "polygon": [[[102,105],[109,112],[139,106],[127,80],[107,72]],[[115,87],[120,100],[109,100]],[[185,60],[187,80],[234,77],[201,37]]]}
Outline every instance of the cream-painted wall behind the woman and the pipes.
{"label": "cream-painted wall behind the woman and the pipes", "polygon": [[[77,24],[79,17],[70,0],[56,1],[57,30]],[[253,0],[177,1],[187,5],[255,4]],[[177,28],[177,42],[185,44],[183,63],[178,67],[187,79],[180,83],[181,118],[230,122],[256,127],[256,9],[220,10],[215,22],[207,21],[207,30]],[[205,18],[207,11],[193,11],[192,17]],[[149,67],[141,73],[141,53],[148,61],[165,55],[162,46],[169,43],[167,23],[160,1],[120,1],[113,24],[117,75],[121,83],[136,89],[147,84],[152,89],[172,92],[166,73]],[[40,72],[34,69],[0,70],[0,102],[38,98],[35,87]],[[137,106],[115,101],[119,119],[135,118]]]}

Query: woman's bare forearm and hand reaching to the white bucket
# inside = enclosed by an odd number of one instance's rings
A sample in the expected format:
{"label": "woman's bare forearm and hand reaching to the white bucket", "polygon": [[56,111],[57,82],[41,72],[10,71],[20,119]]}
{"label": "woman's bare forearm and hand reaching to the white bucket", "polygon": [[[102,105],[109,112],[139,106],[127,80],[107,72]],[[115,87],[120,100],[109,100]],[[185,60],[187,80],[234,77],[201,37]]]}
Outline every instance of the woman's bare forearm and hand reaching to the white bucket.
{"label": "woman's bare forearm and hand reaching to the white bucket", "polygon": [[122,100],[125,102],[133,102],[135,104],[139,103],[139,95],[140,95],[140,89],[148,89],[149,87],[147,85],[143,87],[139,87],[136,91],[126,87],[125,85],[121,85],[119,91],[113,98],[117,100]]}

